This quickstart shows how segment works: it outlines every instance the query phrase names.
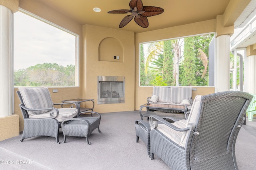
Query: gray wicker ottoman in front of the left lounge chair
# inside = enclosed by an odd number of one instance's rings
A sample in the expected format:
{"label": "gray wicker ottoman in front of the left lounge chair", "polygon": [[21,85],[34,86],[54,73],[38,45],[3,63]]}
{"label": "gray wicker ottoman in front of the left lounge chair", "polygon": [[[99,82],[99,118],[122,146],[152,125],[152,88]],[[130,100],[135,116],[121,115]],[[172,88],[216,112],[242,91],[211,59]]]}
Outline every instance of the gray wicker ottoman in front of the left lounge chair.
{"label": "gray wicker ottoman in front of the left lounge chair", "polygon": [[67,119],[62,122],[62,131],[64,135],[64,140],[62,143],[66,142],[66,136],[74,136],[74,137],[85,137],[88,145],[90,142],[88,137],[94,131],[94,129],[98,128],[100,131],[100,117],[77,117]]}

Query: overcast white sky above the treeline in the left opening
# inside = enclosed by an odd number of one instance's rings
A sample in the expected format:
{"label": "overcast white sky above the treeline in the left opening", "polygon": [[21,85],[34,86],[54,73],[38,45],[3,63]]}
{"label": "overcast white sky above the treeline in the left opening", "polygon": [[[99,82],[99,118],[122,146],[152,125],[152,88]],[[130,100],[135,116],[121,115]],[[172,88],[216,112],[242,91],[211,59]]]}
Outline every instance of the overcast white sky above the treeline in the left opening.
{"label": "overcast white sky above the treeline in the left opening", "polygon": [[36,64],[75,64],[75,36],[32,18],[14,14],[14,70]]}

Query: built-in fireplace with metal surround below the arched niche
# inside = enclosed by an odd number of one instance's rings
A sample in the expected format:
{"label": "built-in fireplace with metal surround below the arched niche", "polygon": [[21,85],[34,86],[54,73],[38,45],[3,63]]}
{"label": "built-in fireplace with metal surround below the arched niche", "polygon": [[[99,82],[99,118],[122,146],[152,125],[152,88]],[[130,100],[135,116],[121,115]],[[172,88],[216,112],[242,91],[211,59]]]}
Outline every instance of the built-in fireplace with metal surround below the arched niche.
{"label": "built-in fireplace with metal surround below the arched niche", "polygon": [[98,76],[98,104],[124,103],[124,77]]}

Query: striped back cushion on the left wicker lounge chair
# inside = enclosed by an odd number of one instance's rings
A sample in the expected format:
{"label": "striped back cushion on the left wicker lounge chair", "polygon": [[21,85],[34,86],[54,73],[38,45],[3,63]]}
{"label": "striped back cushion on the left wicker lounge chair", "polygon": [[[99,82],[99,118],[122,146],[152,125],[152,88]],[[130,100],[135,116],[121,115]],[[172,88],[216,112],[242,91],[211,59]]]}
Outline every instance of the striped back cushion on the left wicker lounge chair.
{"label": "striped back cushion on the left wicker lounge chair", "polygon": [[[52,98],[47,87],[26,88],[19,87],[24,105],[29,109],[53,107]],[[28,111],[28,115],[42,114],[50,110]]]}

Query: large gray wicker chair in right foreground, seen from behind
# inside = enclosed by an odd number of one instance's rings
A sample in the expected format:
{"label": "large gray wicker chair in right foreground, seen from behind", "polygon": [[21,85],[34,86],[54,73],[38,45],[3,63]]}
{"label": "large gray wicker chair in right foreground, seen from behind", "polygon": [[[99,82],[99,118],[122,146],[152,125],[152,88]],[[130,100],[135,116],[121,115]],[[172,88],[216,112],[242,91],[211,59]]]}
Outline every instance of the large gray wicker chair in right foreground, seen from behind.
{"label": "large gray wicker chair in right foreground, seen from behind", "polygon": [[238,169],[235,143],[251,100],[245,92],[218,92],[196,96],[187,121],[150,116],[151,159],[157,155],[173,170]]}

